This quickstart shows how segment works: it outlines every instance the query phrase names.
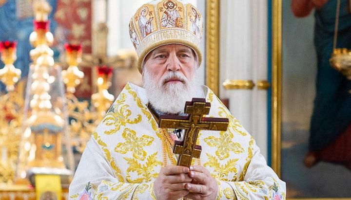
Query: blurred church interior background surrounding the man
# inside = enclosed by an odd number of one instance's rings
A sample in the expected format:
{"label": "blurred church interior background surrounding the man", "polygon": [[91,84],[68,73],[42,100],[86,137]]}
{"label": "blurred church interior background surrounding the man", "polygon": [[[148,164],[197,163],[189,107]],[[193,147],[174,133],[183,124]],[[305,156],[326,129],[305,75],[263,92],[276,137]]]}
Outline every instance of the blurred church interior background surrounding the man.
{"label": "blurred church interior background surrounding the man", "polygon": [[[128,82],[143,85],[128,25],[148,1],[0,0],[0,200],[69,199],[95,128]],[[323,0],[306,16],[294,0],[187,1],[204,20],[199,84],[254,137],[287,199],[351,199],[351,1]],[[332,12],[325,62],[348,92],[328,105],[342,113],[314,107],[337,81],[318,88],[319,11]],[[316,126],[340,134],[319,135],[312,151],[313,117],[326,112]]]}

